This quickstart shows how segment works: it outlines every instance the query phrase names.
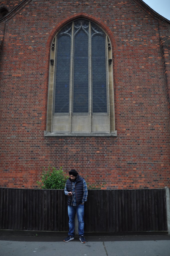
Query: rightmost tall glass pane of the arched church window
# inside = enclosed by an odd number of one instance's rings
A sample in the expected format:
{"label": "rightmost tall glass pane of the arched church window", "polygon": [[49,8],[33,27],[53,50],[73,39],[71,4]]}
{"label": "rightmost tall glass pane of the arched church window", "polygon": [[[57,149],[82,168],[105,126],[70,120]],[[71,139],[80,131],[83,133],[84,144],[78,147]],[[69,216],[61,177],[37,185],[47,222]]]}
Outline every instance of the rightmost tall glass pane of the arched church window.
{"label": "rightmost tall glass pane of the arched church window", "polygon": [[105,37],[95,33],[92,36],[92,88],[93,112],[107,112],[107,81]]}

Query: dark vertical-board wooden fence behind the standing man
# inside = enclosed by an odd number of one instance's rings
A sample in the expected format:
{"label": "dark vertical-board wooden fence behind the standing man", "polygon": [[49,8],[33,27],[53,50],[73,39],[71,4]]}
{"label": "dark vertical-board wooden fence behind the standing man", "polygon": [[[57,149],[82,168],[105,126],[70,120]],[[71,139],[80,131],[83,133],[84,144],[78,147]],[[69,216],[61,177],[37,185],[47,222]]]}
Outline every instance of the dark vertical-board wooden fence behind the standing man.
{"label": "dark vertical-board wooden fence behind the standing man", "polygon": [[[165,189],[88,190],[85,232],[167,231]],[[63,190],[0,188],[0,229],[68,231]]]}

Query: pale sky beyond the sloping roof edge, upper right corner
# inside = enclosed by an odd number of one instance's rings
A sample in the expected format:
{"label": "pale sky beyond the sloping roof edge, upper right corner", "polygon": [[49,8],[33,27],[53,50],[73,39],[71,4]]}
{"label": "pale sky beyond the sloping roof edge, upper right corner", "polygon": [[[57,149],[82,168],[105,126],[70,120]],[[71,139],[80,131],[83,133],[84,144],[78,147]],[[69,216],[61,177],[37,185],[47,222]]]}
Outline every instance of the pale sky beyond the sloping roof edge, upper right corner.
{"label": "pale sky beyond the sloping roof edge, upper right corner", "polygon": [[170,0],[143,0],[155,12],[170,20]]}

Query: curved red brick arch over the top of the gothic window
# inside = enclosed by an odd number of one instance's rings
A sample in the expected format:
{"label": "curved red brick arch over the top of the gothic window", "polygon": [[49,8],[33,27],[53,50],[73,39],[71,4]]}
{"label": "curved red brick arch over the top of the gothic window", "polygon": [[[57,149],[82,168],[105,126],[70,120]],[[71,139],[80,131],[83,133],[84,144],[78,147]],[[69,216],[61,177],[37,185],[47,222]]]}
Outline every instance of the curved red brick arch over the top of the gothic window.
{"label": "curved red brick arch over the top of the gothic window", "polygon": [[51,33],[50,33],[50,35],[48,37],[46,46],[47,47],[51,46],[52,40],[53,40],[54,36],[56,35],[57,31],[60,30],[60,28],[62,28],[64,25],[66,25],[67,23],[71,22],[72,20],[78,19],[78,18],[88,18],[92,22],[98,24],[101,28],[103,28],[103,30],[109,36],[111,44],[112,44],[112,48],[116,47],[116,41],[115,41],[115,38],[114,38],[114,35],[113,35],[111,29],[107,25],[105,25],[105,23],[102,22],[100,19],[94,17],[93,15],[87,14],[87,13],[76,13],[76,14],[73,14],[73,15],[63,19],[61,22],[59,22],[55,26],[55,28],[51,31]]}

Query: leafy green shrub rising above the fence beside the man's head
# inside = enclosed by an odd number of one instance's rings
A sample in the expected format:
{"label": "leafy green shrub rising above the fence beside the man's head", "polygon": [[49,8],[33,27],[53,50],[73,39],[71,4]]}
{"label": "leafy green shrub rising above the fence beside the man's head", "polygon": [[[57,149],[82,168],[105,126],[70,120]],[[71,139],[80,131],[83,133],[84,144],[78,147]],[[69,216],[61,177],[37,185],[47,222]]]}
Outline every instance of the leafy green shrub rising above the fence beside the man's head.
{"label": "leafy green shrub rising above the fence beside the man's head", "polygon": [[[52,171],[50,170],[52,169]],[[69,176],[63,172],[62,167],[59,170],[56,167],[48,166],[48,170],[45,167],[42,169],[41,181],[37,181],[37,184],[42,189],[64,189],[66,180]]]}

